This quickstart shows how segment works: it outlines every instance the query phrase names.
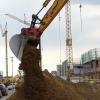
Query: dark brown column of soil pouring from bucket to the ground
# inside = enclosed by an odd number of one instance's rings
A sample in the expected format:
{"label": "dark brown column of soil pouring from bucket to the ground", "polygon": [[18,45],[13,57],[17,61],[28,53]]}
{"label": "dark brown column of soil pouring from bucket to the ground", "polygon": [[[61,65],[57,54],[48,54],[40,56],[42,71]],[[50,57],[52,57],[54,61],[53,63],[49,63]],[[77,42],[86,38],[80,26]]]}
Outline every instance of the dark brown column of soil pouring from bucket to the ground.
{"label": "dark brown column of soil pouring from bucket to the ground", "polygon": [[[24,82],[17,88],[13,100],[41,100],[45,92],[45,80],[39,65],[39,50],[33,47],[34,42],[29,40],[24,47],[20,70],[24,72]],[[11,100],[10,98],[10,100]]]}

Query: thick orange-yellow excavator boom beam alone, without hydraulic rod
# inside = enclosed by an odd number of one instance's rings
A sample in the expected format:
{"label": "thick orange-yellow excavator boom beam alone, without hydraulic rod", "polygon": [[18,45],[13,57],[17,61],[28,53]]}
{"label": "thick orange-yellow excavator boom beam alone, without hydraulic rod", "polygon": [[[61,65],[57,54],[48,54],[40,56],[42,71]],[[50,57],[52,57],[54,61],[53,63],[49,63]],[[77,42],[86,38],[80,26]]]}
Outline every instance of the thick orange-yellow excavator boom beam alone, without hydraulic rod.
{"label": "thick orange-yellow excavator boom beam alone, without hydraulic rod", "polygon": [[43,33],[43,31],[48,27],[48,25],[53,21],[53,19],[57,16],[63,6],[69,0],[55,0],[52,6],[49,8],[47,13],[44,15],[42,19],[42,23],[40,24],[39,31]]}

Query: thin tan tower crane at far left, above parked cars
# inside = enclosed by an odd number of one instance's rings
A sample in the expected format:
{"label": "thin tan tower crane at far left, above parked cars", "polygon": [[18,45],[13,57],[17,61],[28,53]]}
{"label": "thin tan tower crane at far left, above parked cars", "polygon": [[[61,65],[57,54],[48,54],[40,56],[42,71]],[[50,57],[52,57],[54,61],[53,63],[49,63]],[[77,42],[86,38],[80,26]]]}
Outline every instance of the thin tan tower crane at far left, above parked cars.
{"label": "thin tan tower crane at far left, above parked cars", "polygon": [[7,31],[7,22],[6,22],[4,31],[2,29],[1,24],[0,24],[0,28],[1,28],[2,37],[5,37],[6,77],[8,77],[8,45],[7,45],[7,33],[8,33],[8,31]]}

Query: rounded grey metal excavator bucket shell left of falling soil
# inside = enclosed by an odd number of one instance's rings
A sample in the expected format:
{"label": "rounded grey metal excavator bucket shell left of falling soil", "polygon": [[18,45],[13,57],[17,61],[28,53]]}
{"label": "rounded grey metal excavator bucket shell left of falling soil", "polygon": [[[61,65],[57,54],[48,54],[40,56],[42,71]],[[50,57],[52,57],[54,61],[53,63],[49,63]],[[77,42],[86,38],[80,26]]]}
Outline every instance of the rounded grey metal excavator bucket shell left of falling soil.
{"label": "rounded grey metal excavator bucket shell left of falling soil", "polygon": [[10,39],[10,49],[19,60],[21,60],[23,49],[27,40],[28,38],[22,34],[16,34]]}

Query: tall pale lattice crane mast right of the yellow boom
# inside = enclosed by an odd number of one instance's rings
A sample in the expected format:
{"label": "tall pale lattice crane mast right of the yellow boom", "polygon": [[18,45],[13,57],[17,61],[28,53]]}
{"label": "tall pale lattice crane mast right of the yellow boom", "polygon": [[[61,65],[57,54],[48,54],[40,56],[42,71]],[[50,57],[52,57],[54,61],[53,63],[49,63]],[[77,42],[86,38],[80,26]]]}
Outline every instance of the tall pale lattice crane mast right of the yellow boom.
{"label": "tall pale lattice crane mast right of the yellow boom", "polygon": [[72,33],[71,33],[71,5],[70,0],[65,5],[65,19],[66,19],[66,58],[67,67],[67,80],[70,81],[71,66],[73,63],[73,48],[72,48]]}

